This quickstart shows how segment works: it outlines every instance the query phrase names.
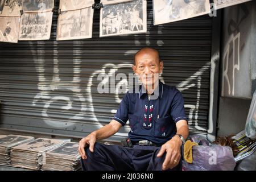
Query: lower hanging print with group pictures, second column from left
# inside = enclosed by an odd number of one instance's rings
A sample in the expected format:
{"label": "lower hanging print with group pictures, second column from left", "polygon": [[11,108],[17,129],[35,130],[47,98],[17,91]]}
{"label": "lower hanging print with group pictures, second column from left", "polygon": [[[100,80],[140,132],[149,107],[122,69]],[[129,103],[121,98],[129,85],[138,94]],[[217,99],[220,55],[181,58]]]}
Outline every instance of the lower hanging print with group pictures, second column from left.
{"label": "lower hanging print with group pictures, second column from left", "polygon": [[51,35],[52,12],[24,13],[20,21],[19,40],[48,40]]}

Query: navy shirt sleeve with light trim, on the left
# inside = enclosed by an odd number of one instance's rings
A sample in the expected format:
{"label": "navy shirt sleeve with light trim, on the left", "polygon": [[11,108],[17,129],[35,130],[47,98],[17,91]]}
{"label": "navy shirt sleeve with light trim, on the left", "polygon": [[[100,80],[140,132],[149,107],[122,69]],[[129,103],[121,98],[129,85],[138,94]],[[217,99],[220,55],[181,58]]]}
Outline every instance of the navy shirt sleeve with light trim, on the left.
{"label": "navy shirt sleeve with light trim, on the left", "polygon": [[128,97],[128,93],[126,93],[122,101],[120,102],[117,113],[115,113],[113,119],[121,123],[122,126],[125,126],[128,120],[128,114],[129,114],[129,97]]}

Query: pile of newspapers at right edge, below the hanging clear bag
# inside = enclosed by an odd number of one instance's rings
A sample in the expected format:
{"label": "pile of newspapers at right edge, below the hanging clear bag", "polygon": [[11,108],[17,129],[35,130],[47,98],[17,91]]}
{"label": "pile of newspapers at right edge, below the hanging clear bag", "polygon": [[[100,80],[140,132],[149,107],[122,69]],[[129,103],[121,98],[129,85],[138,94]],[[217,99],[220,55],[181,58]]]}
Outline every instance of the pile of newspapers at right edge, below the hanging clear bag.
{"label": "pile of newspapers at right edge, below the hanging clear bag", "polygon": [[234,137],[232,137],[232,139],[239,150],[236,156],[234,156],[236,162],[239,162],[256,151],[256,140],[251,140],[250,138],[246,137],[245,130],[236,134]]}

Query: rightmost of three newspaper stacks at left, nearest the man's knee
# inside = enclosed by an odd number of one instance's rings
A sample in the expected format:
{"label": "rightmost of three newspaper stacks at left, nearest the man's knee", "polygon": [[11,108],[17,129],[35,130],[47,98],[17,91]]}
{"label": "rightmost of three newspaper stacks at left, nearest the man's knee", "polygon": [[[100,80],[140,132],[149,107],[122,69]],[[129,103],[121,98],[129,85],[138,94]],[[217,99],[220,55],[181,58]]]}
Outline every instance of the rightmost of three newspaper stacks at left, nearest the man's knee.
{"label": "rightmost of three newspaper stacks at left, nearest the man's knee", "polygon": [[81,156],[77,150],[79,143],[65,142],[61,146],[46,152],[46,162],[42,170],[76,171],[81,168]]}

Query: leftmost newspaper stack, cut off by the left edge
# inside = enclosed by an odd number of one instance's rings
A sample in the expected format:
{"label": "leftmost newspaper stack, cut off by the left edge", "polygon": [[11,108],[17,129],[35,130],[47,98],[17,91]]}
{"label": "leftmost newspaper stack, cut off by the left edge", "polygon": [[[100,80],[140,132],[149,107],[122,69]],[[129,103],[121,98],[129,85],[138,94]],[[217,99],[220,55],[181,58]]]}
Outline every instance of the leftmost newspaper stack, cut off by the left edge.
{"label": "leftmost newspaper stack, cut off by the left edge", "polygon": [[10,151],[14,146],[30,142],[34,137],[21,136],[21,135],[7,135],[0,138],[0,164],[9,166],[11,164]]}

